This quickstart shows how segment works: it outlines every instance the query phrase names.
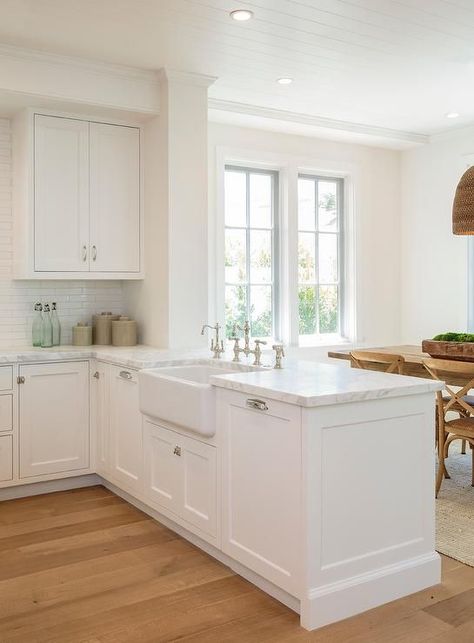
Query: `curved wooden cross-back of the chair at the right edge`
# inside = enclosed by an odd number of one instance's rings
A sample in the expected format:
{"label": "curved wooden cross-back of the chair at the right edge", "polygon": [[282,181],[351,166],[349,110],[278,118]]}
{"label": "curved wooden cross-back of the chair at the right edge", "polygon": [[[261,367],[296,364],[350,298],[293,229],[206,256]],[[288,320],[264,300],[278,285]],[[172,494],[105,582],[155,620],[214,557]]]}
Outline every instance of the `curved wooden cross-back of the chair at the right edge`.
{"label": "curved wooden cross-back of the chair at the right edge", "polygon": [[[445,413],[449,410],[457,410],[452,407],[461,407],[467,414],[474,415],[474,407],[465,398],[469,391],[474,388],[474,362],[431,358],[424,359],[423,366],[433,379],[444,383],[444,388],[449,395],[449,399],[443,403]],[[455,391],[450,385],[446,384],[445,379],[462,379],[465,384],[458,391]],[[437,396],[438,400],[443,400],[440,391],[438,391]]]}

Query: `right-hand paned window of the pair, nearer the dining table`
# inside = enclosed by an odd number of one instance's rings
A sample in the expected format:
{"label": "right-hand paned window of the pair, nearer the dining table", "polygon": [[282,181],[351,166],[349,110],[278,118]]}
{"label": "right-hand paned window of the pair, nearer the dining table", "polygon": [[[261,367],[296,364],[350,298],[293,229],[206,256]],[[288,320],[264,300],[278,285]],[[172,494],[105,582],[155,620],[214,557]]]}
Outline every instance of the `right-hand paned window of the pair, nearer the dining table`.
{"label": "right-hand paned window of the pair, nearer the dining table", "polygon": [[342,179],[298,177],[300,342],[341,331]]}

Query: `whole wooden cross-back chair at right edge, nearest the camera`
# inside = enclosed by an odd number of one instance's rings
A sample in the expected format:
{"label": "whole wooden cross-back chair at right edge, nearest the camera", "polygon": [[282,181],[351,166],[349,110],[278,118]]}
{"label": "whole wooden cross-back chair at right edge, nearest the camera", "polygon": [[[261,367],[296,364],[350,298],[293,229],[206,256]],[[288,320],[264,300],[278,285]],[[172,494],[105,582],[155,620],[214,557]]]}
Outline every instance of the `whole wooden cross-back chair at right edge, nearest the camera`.
{"label": "whole wooden cross-back chair at right edge, nearest the camera", "polygon": [[[445,460],[449,454],[449,445],[453,440],[465,441],[471,447],[472,486],[474,486],[474,398],[468,395],[469,391],[474,388],[474,363],[446,359],[424,359],[423,364],[433,379],[441,382],[444,381],[444,374],[466,377],[466,384],[460,390],[455,391],[451,386],[445,384],[448,395],[443,395],[441,391],[436,393],[439,458],[436,496],[438,496],[443,475],[449,477]],[[454,420],[446,420],[446,414],[449,411],[454,411],[459,417]]]}

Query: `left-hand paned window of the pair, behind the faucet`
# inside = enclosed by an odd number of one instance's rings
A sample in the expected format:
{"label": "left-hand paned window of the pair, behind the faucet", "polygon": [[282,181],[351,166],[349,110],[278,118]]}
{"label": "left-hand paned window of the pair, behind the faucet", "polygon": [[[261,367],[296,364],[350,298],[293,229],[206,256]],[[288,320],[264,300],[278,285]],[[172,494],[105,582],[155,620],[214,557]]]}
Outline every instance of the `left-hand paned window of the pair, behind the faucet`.
{"label": "left-hand paned window of the pair, behind the faucet", "polygon": [[225,323],[278,335],[278,173],[225,168]]}

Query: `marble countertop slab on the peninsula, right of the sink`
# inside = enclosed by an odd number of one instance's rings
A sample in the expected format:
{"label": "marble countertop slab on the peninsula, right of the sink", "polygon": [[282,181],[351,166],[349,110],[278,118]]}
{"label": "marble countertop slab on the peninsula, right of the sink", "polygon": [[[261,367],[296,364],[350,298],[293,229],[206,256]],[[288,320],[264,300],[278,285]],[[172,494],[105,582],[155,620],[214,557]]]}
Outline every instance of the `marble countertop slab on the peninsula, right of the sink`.
{"label": "marble countertop slab on the peninsula, right of the sink", "polygon": [[217,387],[298,406],[326,406],[439,391],[441,382],[346,366],[287,360],[282,370],[232,373],[211,378]]}

